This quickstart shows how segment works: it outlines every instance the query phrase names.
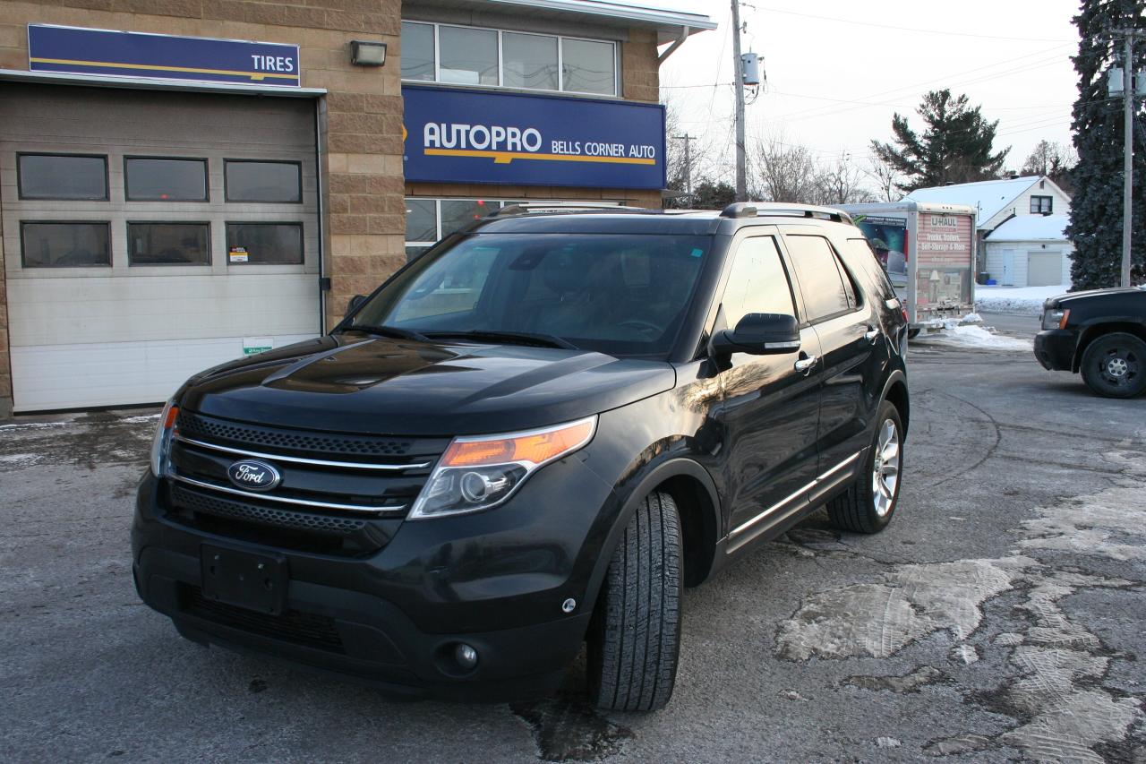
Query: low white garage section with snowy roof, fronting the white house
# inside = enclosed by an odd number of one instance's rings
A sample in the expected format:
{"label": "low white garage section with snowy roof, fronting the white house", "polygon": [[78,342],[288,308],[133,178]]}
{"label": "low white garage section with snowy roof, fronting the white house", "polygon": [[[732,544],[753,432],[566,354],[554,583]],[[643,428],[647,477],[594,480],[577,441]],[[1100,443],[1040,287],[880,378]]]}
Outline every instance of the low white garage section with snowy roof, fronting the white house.
{"label": "low white garage section with snowy roof, fronting the white house", "polygon": [[1066,215],[1023,215],[987,234],[987,272],[1004,287],[1070,283],[1074,245],[1063,228]]}

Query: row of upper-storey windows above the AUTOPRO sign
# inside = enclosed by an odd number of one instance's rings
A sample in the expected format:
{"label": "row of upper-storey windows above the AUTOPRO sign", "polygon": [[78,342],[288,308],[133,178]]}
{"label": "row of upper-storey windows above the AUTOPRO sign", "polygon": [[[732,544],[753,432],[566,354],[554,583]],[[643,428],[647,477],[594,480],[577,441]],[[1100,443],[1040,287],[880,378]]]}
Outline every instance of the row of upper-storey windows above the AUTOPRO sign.
{"label": "row of upper-storey windows above the AUTOPRO sign", "polygon": [[402,22],[402,79],[617,95],[617,44]]}

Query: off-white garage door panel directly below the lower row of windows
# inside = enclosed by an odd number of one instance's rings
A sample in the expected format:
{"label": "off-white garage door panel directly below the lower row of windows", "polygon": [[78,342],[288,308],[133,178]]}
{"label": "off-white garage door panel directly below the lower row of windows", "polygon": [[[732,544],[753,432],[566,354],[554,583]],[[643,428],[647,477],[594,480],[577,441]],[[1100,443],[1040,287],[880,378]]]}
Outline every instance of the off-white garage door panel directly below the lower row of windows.
{"label": "off-white garage door panel directly below the lower row of windows", "polygon": [[21,279],[9,283],[8,315],[17,348],[307,334],[319,328],[319,280],[298,273]]}

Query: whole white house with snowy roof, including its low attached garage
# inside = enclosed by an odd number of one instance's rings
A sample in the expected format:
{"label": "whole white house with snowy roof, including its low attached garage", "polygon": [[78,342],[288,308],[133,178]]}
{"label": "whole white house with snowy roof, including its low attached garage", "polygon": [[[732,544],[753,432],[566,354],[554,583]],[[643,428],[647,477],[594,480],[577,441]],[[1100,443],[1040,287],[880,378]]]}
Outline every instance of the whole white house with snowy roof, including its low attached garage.
{"label": "whole white house with snowy roof, including its low attached garage", "polygon": [[[1070,252],[1074,247],[1062,235],[1063,225],[1045,224],[1036,226],[1036,231],[1015,228],[1018,233],[1006,233],[1008,249],[1013,250],[1011,268],[1004,274],[1002,256],[989,260],[989,250],[998,245],[1002,250],[1003,240],[992,234],[1002,226],[1010,225],[1010,221],[1021,218],[1043,219],[1046,217],[1066,219],[1070,212],[1070,196],[1067,195],[1050,178],[1042,176],[1025,176],[1021,178],[1004,178],[1000,180],[982,180],[974,184],[955,184],[951,186],[934,186],[932,188],[917,188],[908,194],[906,198],[916,202],[939,202],[945,204],[967,204],[979,210],[976,220],[978,228],[978,267],[986,271],[991,279],[999,283],[1012,283],[1017,287],[1026,287],[1027,273],[1034,273],[1034,278],[1039,284],[1070,283]],[[1034,221],[1031,221],[1034,225]],[[1046,240],[1042,237],[1030,240],[1015,240],[1014,235],[1027,235],[1027,233],[1038,233],[1039,236],[1057,229],[1057,237]],[[988,242],[995,242],[989,244]],[[1035,249],[1023,249],[1034,242]],[[1036,251],[1037,250],[1037,251]],[[1028,264],[1025,256],[1017,252],[1034,251],[1034,266]],[[1054,278],[1049,275],[1054,265],[1045,257],[1046,252],[1055,252],[1059,257],[1059,272],[1061,281],[1042,281],[1042,279]],[[1018,258],[1018,260],[1015,259]],[[1031,283],[1029,286],[1038,286]]]}

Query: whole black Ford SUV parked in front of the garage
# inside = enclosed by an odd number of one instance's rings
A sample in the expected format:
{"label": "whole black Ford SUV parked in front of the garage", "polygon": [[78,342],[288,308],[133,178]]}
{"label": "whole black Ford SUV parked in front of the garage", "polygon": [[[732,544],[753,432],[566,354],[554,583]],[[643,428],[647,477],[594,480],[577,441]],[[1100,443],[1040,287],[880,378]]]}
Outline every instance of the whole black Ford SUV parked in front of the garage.
{"label": "whole black Ford SUV parked in front of the garage", "polygon": [[681,587],[892,520],[905,317],[841,212],[515,212],[165,408],[132,546],[185,637],[415,695],[672,694]]}

